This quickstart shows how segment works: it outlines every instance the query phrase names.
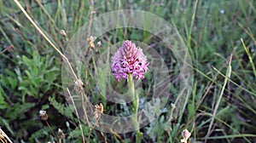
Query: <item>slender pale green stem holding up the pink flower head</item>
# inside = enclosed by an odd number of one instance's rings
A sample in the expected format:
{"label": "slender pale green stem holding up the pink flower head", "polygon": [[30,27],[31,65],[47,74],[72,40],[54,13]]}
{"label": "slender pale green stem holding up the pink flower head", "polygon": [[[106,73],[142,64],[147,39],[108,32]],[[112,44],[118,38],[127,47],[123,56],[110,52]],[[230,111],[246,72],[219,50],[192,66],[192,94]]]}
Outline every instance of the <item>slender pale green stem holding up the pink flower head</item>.
{"label": "slender pale green stem holding up the pink flower head", "polygon": [[134,99],[134,100],[132,100],[132,105],[133,105],[133,109],[134,109],[133,124],[134,124],[135,129],[137,129],[137,131],[136,131],[136,133],[137,133],[136,142],[141,143],[143,133],[140,132],[139,122],[138,122],[138,118],[137,118],[139,97],[138,97],[138,94],[135,93],[135,88],[134,88],[134,83],[133,83],[131,73],[128,74],[128,84],[129,84],[129,89],[130,89],[130,92],[131,92],[131,99]]}

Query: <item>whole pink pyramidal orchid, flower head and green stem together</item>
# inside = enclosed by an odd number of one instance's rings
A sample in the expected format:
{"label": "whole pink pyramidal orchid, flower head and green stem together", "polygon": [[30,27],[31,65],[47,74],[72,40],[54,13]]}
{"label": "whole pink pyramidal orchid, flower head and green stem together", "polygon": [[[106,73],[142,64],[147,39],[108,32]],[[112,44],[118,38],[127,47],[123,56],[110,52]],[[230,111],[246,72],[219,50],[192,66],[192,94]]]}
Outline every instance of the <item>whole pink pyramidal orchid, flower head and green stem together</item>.
{"label": "whole pink pyramidal orchid, flower head and green stem together", "polygon": [[147,56],[143,54],[143,49],[137,48],[135,43],[127,40],[113,55],[111,71],[118,82],[120,78],[127,79],[131,97],[134,99],[132,100],[132,105],[134,110],[133,124],[137,129],[136,142],[141,143],[143,133],[139,130],[140,125],[137,113],[139,96],[134,88],[133,77],[144,78],[144,74],[148,72]]}

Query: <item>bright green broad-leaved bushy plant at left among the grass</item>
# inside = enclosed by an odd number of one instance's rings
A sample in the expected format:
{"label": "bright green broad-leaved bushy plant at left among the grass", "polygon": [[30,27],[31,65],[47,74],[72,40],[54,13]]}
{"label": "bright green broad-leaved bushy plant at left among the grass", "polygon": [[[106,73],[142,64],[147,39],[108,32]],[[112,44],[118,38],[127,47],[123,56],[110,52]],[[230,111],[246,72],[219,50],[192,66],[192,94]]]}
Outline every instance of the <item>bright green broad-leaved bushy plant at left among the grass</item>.
{"label": "bright green broad-leaved bushy plant at left among the grass", "polygon": [[54,57],[38,56],[36,52],[32,53],[32,58],[22,56],[19,63],[21,68],[16,68],[15,72],[19,79],[19,90],[23,101],[26,95],[39,100],[57,85],[54,82],[60,73],[58,68],[53,66],[54,59]]}

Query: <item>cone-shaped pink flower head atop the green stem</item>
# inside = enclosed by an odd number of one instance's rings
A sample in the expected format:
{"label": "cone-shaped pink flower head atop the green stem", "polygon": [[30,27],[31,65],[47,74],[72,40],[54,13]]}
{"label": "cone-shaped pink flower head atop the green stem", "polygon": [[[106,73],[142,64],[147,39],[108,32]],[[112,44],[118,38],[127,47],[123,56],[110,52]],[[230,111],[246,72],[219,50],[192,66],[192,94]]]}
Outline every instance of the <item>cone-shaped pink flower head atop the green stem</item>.
{"label": "cone-shaped pink flower head atop the green stem", "polygon": [[135,43],[127,40],[113,55],[111,70],[118,82],[119,78],[127,79],[129,73],[132,77],[144,78],[148,71],[147,56],[143,54],[143,49],[137,48]]}

